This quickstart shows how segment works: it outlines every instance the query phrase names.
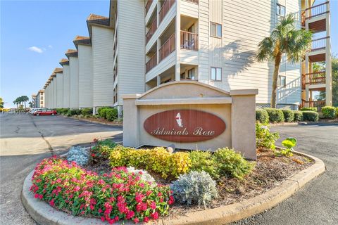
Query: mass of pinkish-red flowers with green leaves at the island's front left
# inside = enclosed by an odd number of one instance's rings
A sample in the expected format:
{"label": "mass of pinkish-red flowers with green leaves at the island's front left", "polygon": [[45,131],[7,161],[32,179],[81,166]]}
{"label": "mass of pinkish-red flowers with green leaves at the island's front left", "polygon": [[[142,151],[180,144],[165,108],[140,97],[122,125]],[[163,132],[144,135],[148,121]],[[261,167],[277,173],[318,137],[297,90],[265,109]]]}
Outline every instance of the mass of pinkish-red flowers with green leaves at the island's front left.
{"label": "mass of pinkish-red flowers with green leaves at the island's front left", "polygon": [[173,204],[169,186],[143,181],[141,175],[117,167],[99,176],[75,162],[49,158],[35,168],[30,191],[59,210],[109,224],[124,219],[146,222],[168,214]]}

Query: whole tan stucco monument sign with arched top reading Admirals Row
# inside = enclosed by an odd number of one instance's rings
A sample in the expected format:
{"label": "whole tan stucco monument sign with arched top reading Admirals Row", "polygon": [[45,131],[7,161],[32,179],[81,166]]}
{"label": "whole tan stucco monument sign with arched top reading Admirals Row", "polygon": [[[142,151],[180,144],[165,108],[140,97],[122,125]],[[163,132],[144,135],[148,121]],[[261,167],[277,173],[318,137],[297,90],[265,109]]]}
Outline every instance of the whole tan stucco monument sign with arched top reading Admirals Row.
{"label": "whole tan stucco monument sign with arched top reading Admirals Row", "polygon": [[217,89],[201,82],[169,82],[123,96],[123,145],[216,150],[234,148],[256,160],[257,89]]}

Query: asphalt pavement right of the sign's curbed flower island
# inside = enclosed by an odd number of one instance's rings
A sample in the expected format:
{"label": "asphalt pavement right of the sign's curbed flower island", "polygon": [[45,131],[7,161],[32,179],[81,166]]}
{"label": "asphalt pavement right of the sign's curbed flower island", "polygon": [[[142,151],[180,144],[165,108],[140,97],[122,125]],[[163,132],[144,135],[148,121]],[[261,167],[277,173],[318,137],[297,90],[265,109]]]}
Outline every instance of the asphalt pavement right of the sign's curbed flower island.
{"label": "asphalt pavement right of the sign's curbed flower island", "polygon": [[280,132],[277,144],[289,136],[298,141],[296,150],[320,158],[327,171],[306,184],[292,198],[272,210],[237,221],[232,225],[338,224],[338,124],[272,127]]}

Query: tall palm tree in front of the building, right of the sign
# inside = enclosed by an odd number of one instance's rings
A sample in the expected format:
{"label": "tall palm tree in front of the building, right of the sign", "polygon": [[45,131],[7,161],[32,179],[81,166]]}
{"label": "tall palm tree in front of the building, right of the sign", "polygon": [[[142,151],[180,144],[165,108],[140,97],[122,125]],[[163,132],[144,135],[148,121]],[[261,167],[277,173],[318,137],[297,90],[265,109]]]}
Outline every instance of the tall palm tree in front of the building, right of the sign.
{"label": "tall palm tree in front of the building, right of the sign", "polygon": [[286,53],[287,61],[297,63],[303,59],[306,51],[311,49],[312,33],[306,30],[297,30],[294,26],[295,22],[293,14],[281,18],[273,32],[271,32],[270,37],[265,37],[258,44],[256,56],[258,62],[269,60],[275,62],[273,91],[270,102],[271,108],[276,108],[277,78],[283,53]]}

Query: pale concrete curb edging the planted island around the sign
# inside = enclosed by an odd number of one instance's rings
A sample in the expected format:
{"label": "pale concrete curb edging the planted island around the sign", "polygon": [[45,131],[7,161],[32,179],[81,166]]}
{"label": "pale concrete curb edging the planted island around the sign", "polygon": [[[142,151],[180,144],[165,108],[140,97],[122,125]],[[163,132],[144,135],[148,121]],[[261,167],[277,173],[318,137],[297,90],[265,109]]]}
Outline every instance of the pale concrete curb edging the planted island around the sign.
{"label": "pale concrete curb edging the planted island around the sign", "polygon": [[[299,154],[306,155],[304,153]],[[315,161],[311,167],[294,174],[294,176],[283,181],[280,186],[261,195],[215,209],[190,212],[176,219],[160,219],[158,224],[227,224],[269,210],[292,196],[302,186],[308,183],[308,181],[315,178],[315,176],[325,172],[325,165],[322,160],[315,158],[312,155],[306,156]],[[33,194],[29,191],[29,188],[32,185],[31,179],[33,173],[34,171],[30,172],[23,183],[21,200],[23,201],[23,205],[27,212],[35,219],[35,221],[37,221],[37,223],[48,225],[107,224],[99,219],[73,217],[70,214],[55,210],[42,200],[35,199]],[[130,224],[130,222],[127,221],[125,224]]]}

